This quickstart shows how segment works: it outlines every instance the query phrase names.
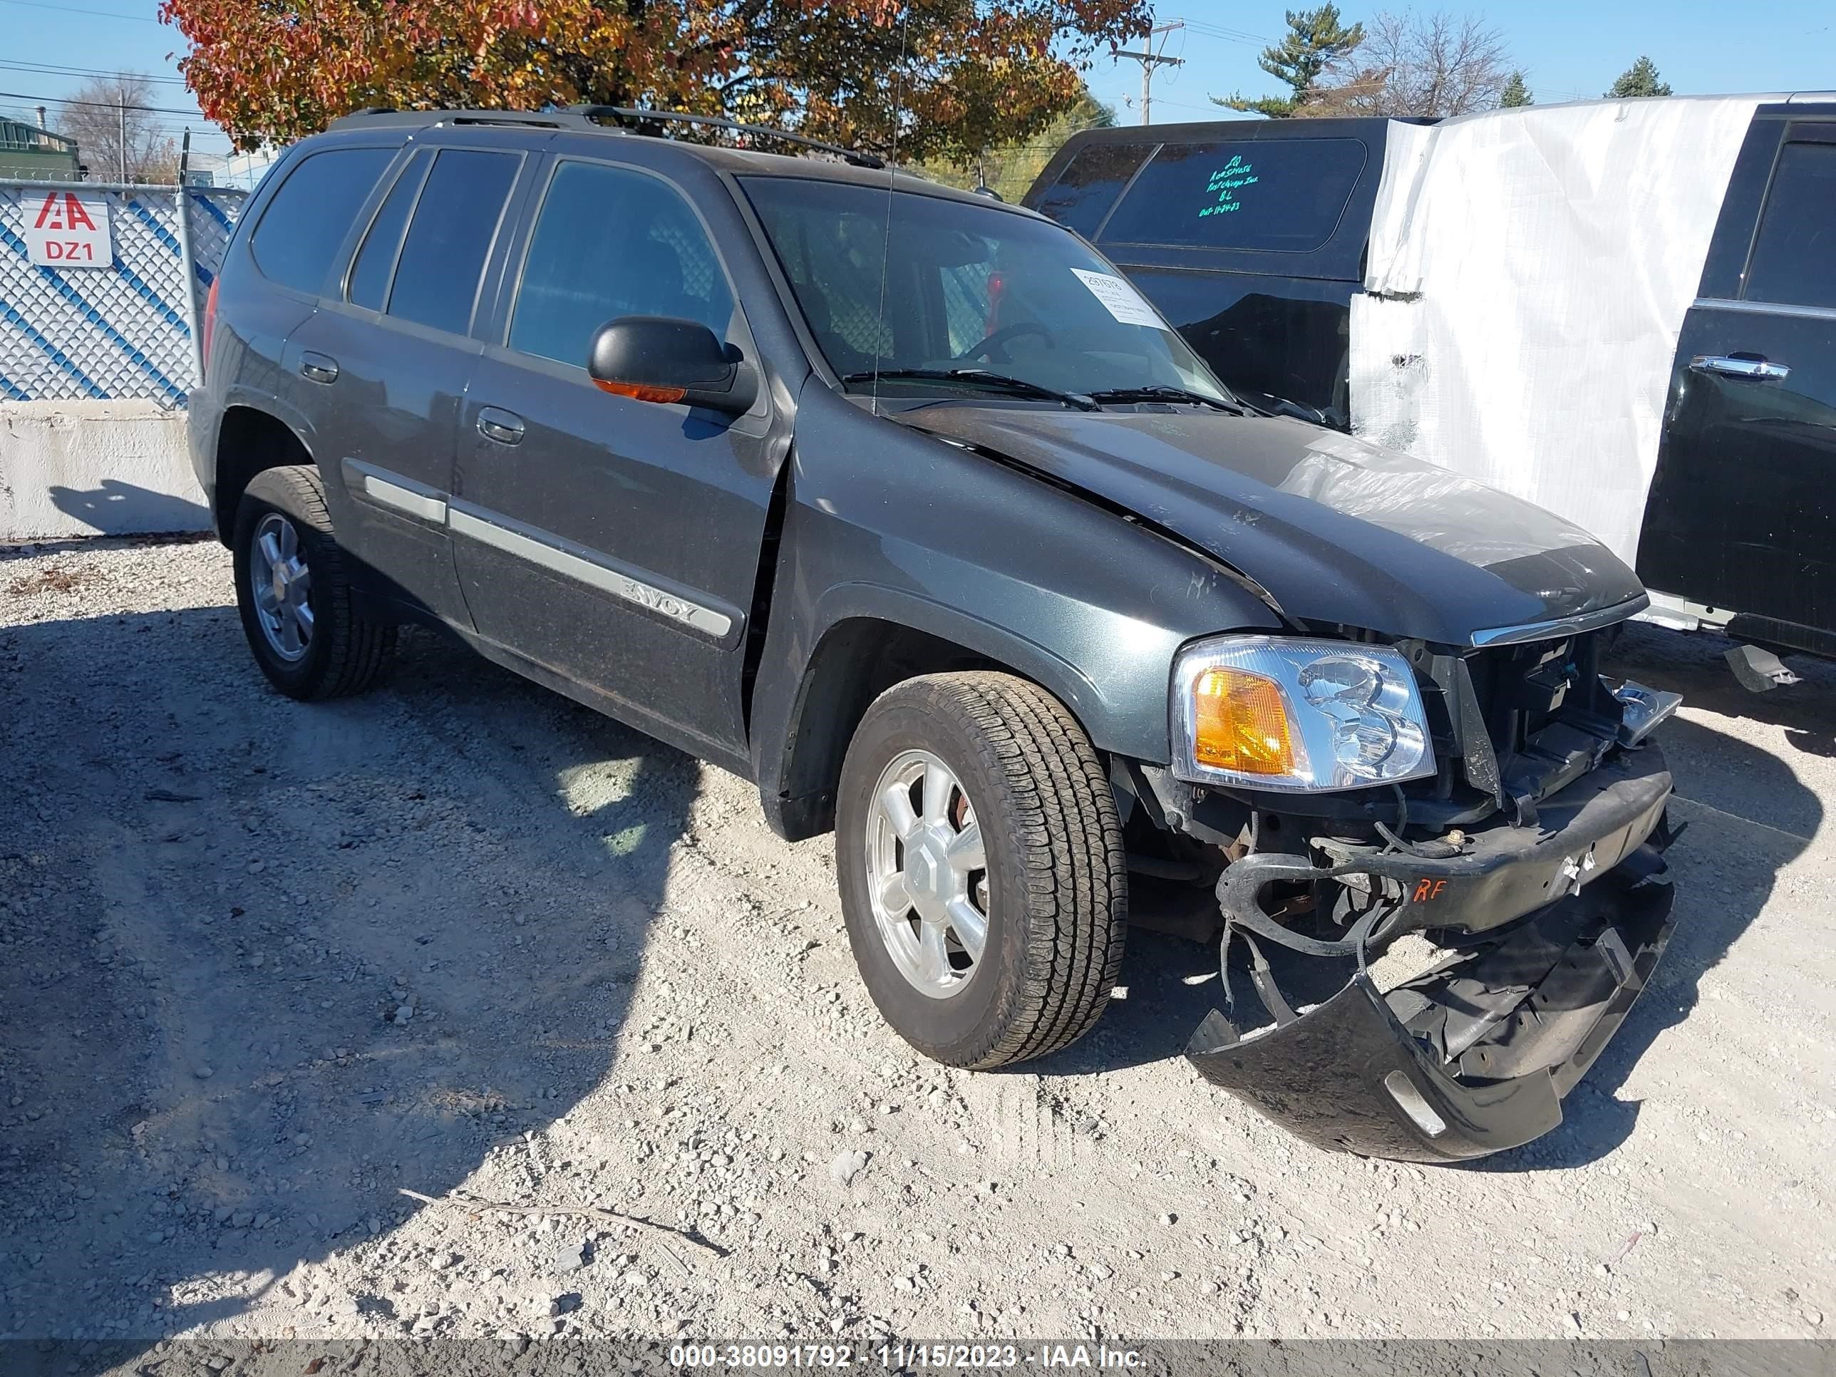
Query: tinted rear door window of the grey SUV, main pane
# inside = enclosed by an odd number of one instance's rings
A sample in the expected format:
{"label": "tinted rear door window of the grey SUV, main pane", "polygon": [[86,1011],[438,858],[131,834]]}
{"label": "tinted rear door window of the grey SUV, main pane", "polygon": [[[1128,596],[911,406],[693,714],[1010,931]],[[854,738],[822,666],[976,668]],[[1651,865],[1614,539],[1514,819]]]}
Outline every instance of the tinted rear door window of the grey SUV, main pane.
{"label": "tinted rear door window of the grey SUV, main pane", "polygon": [[441,151],[395,264],[391,316],[452,334],[472,329],[477,283],[521,162],[516,152]]}

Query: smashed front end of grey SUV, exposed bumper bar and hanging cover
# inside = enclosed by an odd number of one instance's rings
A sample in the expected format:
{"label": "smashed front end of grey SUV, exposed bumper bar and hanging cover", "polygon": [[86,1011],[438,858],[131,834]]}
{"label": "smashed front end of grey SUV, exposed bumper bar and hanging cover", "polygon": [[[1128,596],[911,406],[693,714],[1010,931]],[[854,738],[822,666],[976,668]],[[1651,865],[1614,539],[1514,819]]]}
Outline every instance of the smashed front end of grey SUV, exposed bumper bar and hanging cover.
{"label": "smashed front end of grey SUV, exposed bumper bar and hanging cover", "polygon": [[[1678,700],[1601,679],[1592,632],[1392,650],[1421,688],[1432,778],[1142,784],[1159,823],[1226,859],[1225,1008],[1186,1048],[1199,1072],[1320,1148],[1461,1160],[1561,1124],[1663,953],[1671,775],[1647,738]],[[1381,958],[1410,935],[1438,958],[1390,979]],[[1271,966],[1272,949],[1294,957]],[[1252,999],[1234,997],[1234,955]]]}

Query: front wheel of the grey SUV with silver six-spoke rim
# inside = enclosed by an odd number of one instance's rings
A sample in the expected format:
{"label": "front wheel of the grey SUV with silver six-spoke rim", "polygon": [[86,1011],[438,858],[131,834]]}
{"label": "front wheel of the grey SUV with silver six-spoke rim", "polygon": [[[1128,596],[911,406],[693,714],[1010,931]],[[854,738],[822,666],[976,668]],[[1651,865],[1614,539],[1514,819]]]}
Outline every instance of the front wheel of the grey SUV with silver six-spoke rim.
{"label": "front wheel of the grey SUV with silver six-spoke rim", "polygon": [[925,1056],[1004,1067],[1102,1017],[1122,826],[1096,749],[1037,685],[931,674],[881,694],[843,764],[835,870],[867,991]]}

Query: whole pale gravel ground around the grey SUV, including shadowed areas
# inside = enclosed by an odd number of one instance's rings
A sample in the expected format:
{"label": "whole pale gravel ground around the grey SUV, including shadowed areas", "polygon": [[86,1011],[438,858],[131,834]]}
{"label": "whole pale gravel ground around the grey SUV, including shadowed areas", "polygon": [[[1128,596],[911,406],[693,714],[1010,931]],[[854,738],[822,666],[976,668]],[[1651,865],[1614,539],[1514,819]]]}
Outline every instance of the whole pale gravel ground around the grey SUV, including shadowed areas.
{"label": "whole pale gravel ground around the grey SUV, including shadowed areas", "polygon": [[1810,1337],[1836,1307],[1836,666],[1755,698],[1713,641],[1627,635],[1691,700],[1676,940],[1568,1122],[1456,1170],[1204,1087],[1177,1052],[1212,953],[1170,936],[1069,1052],[920,1061],[828,839],[773,839],[751,786],[430,635],[292,703],[228,604],[209,543],[0,556],[0,1338]]}

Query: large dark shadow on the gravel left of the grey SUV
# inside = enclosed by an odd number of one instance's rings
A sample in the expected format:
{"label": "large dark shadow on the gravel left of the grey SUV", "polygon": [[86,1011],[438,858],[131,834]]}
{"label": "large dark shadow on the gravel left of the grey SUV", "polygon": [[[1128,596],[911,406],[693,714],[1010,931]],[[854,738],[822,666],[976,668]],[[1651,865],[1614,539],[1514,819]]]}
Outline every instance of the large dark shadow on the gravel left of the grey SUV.
{"label": "large dark shadow on the gravel left of the grey SUV", "polygon": [[424,633],[294,703],[233,608],[4,628],[0,696],[0,1335],[310,1307],[604,1081],[690,758]]}

